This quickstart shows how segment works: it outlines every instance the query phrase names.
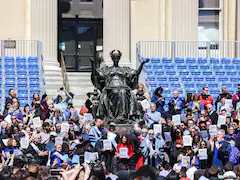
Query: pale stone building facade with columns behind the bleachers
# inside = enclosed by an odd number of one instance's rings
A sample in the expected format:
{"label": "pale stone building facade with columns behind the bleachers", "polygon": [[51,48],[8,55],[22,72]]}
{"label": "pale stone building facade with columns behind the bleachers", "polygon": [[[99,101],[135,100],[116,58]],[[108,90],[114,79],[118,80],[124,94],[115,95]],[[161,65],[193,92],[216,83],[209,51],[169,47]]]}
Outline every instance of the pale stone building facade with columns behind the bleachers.
{"label": "pale stone building facade with columns behind the bleachers", "polygon": [[140,40],[240,41],[239,0],[69,1],[59,20],[57,0],[0,0],[0,39],[40,40],[45,61],[58,60],[60,45],[73,71],[89,69],[89,56],[101,50],[111,63],[113,49],[135,67]]}

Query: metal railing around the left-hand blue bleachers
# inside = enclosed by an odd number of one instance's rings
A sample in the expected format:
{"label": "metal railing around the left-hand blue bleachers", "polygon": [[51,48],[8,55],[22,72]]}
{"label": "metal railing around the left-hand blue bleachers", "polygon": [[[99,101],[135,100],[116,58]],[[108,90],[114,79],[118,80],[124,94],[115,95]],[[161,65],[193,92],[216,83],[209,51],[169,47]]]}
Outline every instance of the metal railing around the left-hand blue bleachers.
{"label": "metal railing around the left-hand blue bleachers", "polygon": [[[38,68],[39,68],[39,79],[40,79],[40,95],[46,92],[45,86],[45,77],[44,77],[44,68],[43,68],[43,56],[42,56],[42,43],[35,40],[1,40],[0,41],[0,57],[2,58],[2,99],[1,105],[2,110],[4,109],[5,104],[5,57],[12,56],[14,58],[14,70],[17,72],[17,62],[16,58],[19,56],[26,58],[26,64],[28,64],[28,57],[34,56],[38,58]],[[29,78],[29,77],[28,77]],[[29,88],[28,80],[28,88]],[[17,81],[15,83],[15,88],[17,90]],[[30,91],[28,102],[30,102]]]}

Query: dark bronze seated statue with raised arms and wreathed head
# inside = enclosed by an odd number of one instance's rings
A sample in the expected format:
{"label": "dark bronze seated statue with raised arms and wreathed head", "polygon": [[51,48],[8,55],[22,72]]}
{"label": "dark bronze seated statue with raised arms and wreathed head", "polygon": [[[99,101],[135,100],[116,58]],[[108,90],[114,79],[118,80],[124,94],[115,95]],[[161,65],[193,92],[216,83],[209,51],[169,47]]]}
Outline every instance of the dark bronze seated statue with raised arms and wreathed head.
{"label": "dark bronze seated statue with raised arms and wreathed head", "polygon": [[115,123],[132,123],[140,115],[139,106],[132,90],[138,86],[138,77],[145,60],[137,70],[118,65],[122,53],[113,50],[110,56],[113,66],[95,68],[92,61],[92,83],[101,91],[96,117]]}

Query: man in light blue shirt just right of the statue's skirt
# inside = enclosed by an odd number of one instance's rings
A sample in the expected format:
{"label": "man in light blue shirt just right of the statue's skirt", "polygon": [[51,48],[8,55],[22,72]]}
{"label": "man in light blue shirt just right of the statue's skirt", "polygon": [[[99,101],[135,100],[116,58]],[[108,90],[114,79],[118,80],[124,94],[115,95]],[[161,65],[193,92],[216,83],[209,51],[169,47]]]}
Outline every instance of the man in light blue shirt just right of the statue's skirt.
{"label": "man in light blue shirt just right of the statue's skirt", "polygon": [[144,120],[147,122],[148,127],[152,128],[154,124],[158,124],[161,118],[161,113],[156,111],[156,105],[150,105],[151,111],[144,114]]}

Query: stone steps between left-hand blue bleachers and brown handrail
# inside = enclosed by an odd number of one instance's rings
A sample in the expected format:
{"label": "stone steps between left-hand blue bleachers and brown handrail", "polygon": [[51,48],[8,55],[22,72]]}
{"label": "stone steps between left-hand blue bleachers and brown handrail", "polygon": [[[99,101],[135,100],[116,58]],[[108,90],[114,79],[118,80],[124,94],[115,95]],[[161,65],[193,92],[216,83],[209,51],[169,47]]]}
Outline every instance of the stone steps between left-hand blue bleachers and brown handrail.
{"label": "stone steps between left-hand blue bleachers and brown handrail", "polygon": [[63,87],[63,79],[61,68],[57,61],[44,62],[44,74],[46,81],[46,93],[49,103],[52,102],[52,97],[57,93],[57,89]]}

